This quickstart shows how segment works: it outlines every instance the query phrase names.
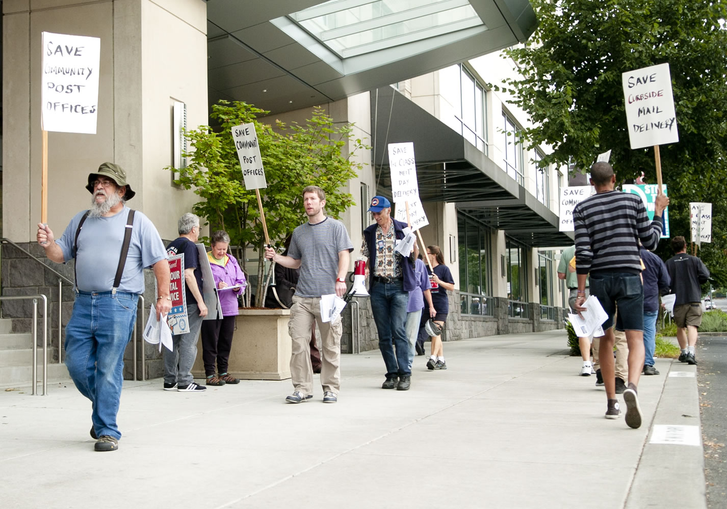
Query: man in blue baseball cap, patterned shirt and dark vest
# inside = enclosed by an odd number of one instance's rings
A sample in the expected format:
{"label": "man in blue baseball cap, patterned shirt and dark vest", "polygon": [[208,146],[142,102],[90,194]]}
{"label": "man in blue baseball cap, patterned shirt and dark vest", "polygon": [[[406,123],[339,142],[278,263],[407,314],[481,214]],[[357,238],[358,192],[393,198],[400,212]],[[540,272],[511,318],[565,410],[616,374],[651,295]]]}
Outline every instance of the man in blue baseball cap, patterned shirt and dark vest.
{"label": "man in blue baseball cap, patterned shirt and dark vest", "polygon": [[[391,217],[391,203],[383,196],[371,198],[369,212],[376,224],[364,229],[361,255],[368,258],[371,277],[371,311],[379,332],[379,350],[386,365],[386,381],[381,388],[409,390],[409,341],[406,337],[406,306],[414,277],[414,253],[408,257],[394,251],[403,239],[406,224]],[[392,345],[392,339],[395,346]]]}

